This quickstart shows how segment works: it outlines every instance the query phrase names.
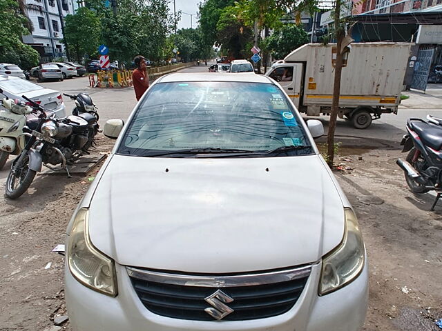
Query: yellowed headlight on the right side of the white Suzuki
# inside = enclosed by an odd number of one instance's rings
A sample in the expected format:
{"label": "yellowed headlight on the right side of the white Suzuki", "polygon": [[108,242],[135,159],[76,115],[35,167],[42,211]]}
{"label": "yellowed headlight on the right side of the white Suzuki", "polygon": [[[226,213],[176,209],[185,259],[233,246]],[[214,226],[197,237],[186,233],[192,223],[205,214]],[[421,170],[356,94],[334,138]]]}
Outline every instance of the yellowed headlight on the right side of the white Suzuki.
{"label": "yellowed headlight on the right side of the white Suzuki", "polygon": [[319,295],[328,294],[353,281],[364,267],[365,246],[358,219],[345,208],[345,233],[337,248],[323,257]]}

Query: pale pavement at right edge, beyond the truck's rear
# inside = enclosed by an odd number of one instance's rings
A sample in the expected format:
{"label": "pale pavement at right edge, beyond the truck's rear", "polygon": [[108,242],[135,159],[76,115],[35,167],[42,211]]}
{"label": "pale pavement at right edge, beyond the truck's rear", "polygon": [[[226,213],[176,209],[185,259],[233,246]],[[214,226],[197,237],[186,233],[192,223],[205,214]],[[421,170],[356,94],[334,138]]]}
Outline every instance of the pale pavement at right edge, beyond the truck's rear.
{"label": "pale pavement at right edge, beyond the truck's rear", "polygon": [[401,109],[442,109],[442,84],[428,84],[425,93],[418,90],[404,91],[410,99],[401,101]]}

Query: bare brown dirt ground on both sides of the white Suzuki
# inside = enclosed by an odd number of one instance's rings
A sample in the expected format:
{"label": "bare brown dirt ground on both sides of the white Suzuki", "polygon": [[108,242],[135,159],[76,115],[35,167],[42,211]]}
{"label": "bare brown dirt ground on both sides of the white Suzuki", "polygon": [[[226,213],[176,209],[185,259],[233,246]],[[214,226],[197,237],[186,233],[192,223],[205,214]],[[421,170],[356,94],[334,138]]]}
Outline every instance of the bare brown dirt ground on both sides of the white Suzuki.
{"label": "bare brown dirt ground on both sides of the white Suzuki", "polygon": [[[101,137],[98,150],[108,152],[112,144]],[[407,189],[395,164],[405,157],[398,148],[339,154],[335,174],[358,214],[369,256],[363,330],[441,330],[434,321],[442,318],[442,199],[430,212],[434,197]],[[53,326],[66,307],[64,257],[51,250],[64,243],[68,219],[96,172],[38,176],[20,199],[0,199],[1,331],[70,330],[68,322]]]}

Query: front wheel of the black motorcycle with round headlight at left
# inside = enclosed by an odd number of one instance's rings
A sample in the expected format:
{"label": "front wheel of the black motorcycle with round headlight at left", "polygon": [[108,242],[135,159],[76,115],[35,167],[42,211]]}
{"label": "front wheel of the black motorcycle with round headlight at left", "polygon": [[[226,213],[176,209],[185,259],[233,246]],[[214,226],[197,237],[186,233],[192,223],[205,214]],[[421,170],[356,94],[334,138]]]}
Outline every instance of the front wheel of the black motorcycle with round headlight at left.
{"label": "front wheel of the black motorcycle with round headlight at left", "polygon": [[29,156],[23,158],[20,168],[16,170],[11,169],[6,179],[6,197],[9,199],[17,199],[26,190],[28,190],[30,184],[34,180],[35,172],[29,168]]}

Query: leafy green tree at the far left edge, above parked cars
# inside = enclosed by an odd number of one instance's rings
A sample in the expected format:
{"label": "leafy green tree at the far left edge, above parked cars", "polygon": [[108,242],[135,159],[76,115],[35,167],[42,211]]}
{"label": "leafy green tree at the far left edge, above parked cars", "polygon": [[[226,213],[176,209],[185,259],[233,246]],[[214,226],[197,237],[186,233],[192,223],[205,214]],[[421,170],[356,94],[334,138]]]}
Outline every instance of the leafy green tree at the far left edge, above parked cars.
{"label": "leafy green tree at the far left edge, above parked cars", "polygon": [[35,66],[39,53],[21,41],[21,35],[29,34],[28,19],[19,13],[19,3],[0,0],[0,62],[10,62],[23,69]]}

